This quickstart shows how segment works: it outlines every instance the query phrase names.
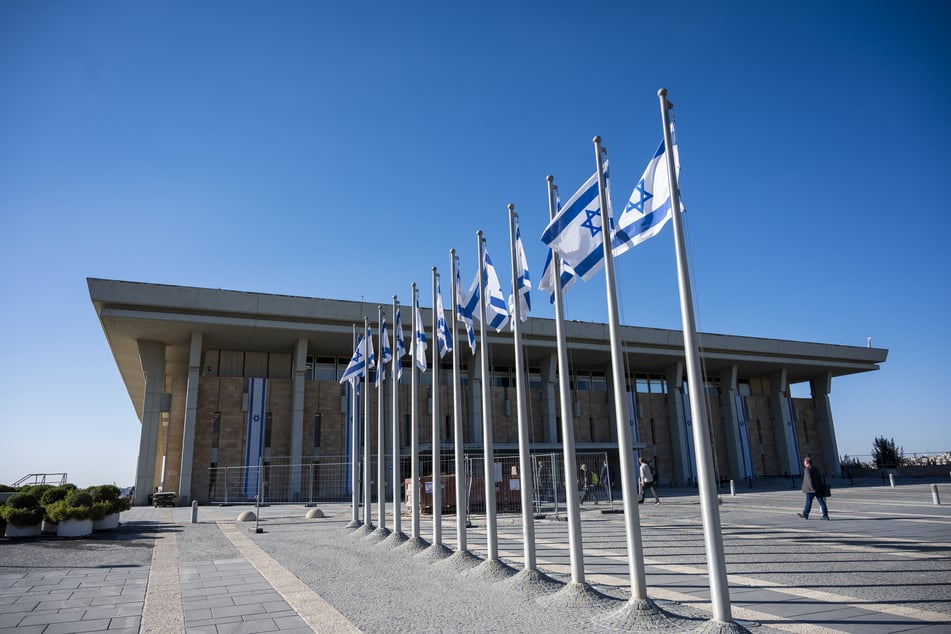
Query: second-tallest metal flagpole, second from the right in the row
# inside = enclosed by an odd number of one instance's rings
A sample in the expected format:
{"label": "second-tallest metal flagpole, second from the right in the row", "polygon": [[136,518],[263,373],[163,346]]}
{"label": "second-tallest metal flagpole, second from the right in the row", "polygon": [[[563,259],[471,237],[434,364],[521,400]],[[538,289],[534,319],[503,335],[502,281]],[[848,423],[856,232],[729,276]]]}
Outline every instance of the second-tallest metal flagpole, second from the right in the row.
{"label": "second-tallest metal flagpole, second from the right in the row", "polygon": [[647,599],[647,576],[641,544],[640,514],[634,474],[634,445],[627,422],[627,390],[624,359],[621,356],[621,328],[614,284],[614,257],[611,253],[611,220],[608,213],[607,186],[602,163],[601,137],[594,137],[595,162],[598,166],[598,196],[601,205],[601,241],[604,245],[604,279],[608,300],[608,329],[611,335],[611,373],[614,383],[614,419],[617,428],[618,458],[621,466],[621,503],[624,508],[624,529],[627,538],[627,560],[631,575],[631,601]]}

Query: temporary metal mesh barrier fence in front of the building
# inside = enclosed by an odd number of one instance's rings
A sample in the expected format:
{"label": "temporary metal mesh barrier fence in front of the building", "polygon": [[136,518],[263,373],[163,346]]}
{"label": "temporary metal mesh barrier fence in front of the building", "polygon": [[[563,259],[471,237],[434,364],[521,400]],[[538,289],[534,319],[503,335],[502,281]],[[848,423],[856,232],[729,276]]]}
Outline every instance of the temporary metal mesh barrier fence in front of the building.
{"label": "temporary metal mesh barrier fence in front of the building", "polygon": [[[561,453],[531,455],[532,484],[534,487],[533,511],[535,513],[559,513],[565,508],[566,486],[579,488],[582,503],[594,501],[612,504],[613,473],[604,452],[576,453],[575,462],[580,468],[588,466],[590,473],[598,478],[582,490],[579,476],[566,478],[564,459]],[[496,511],[520,513],[521,484],[517,455],[496,455],[493,460]],[[387,502],[392,496],[392,457],[386,459],[384,473]],[[377,501],[377,458],[370,459],[370,494]],[[400,458],[400,497],[412,504],[412,465],[409,456]],[[456,466],[455,457],[446,452],[440,456],[440,483],[442,488],[441,509],[445,513],[456,512]],[[485,513],[485,469],[481,454],[466,454],[462,473],[465,478],[467,513]],[[432,454],[420,454],[420,509],[432,513]],[[363,461],[357,464],[357,491],[363,497]],[[212,467],[209,469],[208,502],[212,504],[254,504],[260,491],[262,504],[309,504],[320,502],[347,502],[352,499],[351,463],[346,456],[333,456],[313,463],[292,463],[288,458],[275,458],[262,466]]]}

